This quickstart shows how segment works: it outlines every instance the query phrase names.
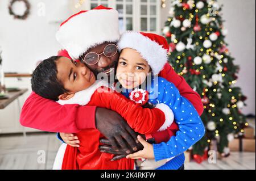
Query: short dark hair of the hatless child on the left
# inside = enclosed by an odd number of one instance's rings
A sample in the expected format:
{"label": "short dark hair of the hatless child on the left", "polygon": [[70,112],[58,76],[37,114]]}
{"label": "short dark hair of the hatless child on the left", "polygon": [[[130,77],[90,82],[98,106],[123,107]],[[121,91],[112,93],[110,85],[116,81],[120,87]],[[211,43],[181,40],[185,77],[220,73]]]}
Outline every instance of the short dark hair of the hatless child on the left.
{"label": "short dark hair of the hatless child on the left", "polygon": [[57,79],[56,61],[61,56],[52,56],[41,62],[34,70],[31,78],[32,91],[46,99],[59,100],[59,95],[64,94],[63,83]]}

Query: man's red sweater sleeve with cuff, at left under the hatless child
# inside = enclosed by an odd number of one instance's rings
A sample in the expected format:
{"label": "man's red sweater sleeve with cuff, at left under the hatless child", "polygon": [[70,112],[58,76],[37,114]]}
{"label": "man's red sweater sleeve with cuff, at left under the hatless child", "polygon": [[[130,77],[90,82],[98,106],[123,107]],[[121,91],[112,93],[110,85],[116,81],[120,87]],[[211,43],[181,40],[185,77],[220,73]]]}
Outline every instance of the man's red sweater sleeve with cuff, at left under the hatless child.
{"label": "man's red sweater sleeve with cuff, at left under the hatless child", "polygon": [[95,128],[95,111],[96,106],[61,106],[32,92],[22,107],[19,121],[24,127],[42,131],[76,133]]}

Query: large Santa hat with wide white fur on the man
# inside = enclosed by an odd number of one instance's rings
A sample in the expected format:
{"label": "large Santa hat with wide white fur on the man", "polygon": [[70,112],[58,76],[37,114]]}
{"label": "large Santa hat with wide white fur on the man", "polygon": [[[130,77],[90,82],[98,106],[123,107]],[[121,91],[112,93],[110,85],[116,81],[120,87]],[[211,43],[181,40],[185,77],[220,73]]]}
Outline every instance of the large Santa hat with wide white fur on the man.
{"label": "large Santa hat with wide white fur on the man", "polygon": [[119,38],[118,11],[104,6],[72,15],[61,23],[56,33],[57,41],[73,59],[79,59],[96,45]]}

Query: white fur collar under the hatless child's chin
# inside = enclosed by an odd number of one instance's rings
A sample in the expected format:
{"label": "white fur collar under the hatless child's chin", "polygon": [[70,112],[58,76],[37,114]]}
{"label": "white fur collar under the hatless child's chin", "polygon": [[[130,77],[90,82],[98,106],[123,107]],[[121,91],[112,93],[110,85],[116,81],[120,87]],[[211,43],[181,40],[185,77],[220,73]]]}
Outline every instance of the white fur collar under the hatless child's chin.
{"label": "white fur collar under the hatless child's chin", "polygon": [[96,81],[88,89],[76,92],[76,94],[71,99],[58,100],[57,103],[60,105],[79,104],[80,106],[85,106],[90,102],[90,98],[92,98],[93,93],[101,86],[109,87],[108,82],[106,81]]}

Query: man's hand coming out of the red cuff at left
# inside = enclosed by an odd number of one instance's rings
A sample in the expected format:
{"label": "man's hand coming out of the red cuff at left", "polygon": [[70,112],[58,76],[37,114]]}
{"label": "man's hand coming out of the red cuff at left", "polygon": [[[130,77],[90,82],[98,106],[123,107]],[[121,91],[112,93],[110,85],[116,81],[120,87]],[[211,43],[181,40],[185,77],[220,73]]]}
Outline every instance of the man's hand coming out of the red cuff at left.
{"label": "man's hand coming out of the red cuff at left", "polygon": [[[96,110],[96,128],[108,139],[106,150],[113,154],[130,154],[138,151],[137,134],[115,111],[98,107]],[[104,143],[104,142],[103,142]],[[104,147],[103,147],[104,148]]]}

